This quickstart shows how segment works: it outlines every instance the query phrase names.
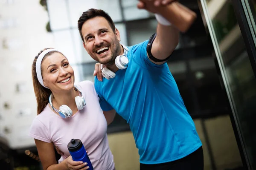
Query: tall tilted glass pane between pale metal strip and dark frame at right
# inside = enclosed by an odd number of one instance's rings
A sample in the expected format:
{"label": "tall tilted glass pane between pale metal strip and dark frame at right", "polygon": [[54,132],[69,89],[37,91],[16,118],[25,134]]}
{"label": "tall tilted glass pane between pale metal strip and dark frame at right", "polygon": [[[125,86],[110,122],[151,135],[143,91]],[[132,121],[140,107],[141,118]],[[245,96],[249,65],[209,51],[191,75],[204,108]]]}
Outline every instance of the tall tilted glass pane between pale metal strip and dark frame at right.
{"label": "tall tilted glass pane between pale metal strip and dark frame at right", "polygon": [[201,3],[233,116],[251,168],[256,169],[256,79],[235,12],[229,0],[201,0]]}

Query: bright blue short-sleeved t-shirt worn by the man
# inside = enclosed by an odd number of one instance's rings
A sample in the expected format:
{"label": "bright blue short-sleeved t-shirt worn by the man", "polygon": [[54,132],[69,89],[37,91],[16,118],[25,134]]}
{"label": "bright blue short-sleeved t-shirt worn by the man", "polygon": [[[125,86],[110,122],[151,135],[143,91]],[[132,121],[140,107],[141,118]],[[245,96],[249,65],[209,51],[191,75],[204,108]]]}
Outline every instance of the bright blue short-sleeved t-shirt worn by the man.
{"label": "bright blue short-sleeved t-shirt worn by the man", "polygon": [[115,109],[129,123],[140,163],[159,164],[183,158],[202,143],[167,63],[151,62],[147,44],[128,47],[128,67],[114,79],[95,77],[95,89],[102,110]]}

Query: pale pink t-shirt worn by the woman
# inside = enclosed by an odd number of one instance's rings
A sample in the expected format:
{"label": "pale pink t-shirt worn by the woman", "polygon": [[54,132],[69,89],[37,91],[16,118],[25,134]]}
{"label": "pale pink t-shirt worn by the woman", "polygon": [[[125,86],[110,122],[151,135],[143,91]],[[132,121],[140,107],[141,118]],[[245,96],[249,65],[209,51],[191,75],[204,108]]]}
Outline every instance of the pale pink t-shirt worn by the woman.
{"label": "pale pink t-shirt worn by the woman", "polygon": [[79,82],[86,105],[83,110],[73,113],[64,119],[47,105],[32,122],[29,136],[44,141],[53,142],[64,156],[59,162],[70,156],[67,144],[71,139],[80,139],[88,151],[94,170],[113,170],[113,155],[108,145],[107,122],[99,105],[99,98],[93,82]]}

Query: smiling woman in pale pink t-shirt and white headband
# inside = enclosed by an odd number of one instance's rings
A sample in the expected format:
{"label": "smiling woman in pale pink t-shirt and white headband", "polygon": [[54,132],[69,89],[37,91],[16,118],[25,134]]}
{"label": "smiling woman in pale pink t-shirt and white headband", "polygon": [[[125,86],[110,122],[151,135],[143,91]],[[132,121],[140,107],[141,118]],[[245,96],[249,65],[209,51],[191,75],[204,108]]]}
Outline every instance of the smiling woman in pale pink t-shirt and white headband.
{"label": "smiling woman in pale pink t-shirt and white headband", "polygon": [[[94,170],[113,170],[106,133],[113,117],[105,118],[102,113],[93,82],[79,82],[74,87],[73,68],[67,58],[53,48],[46,48],[35,57],[32,78],[38,115],[29,136],[35,139],[44,170],[89,168],[86,162],[73,161],[67,149],[71,139],[80,139],[84,144]],[[54,146],[63,152],[58,163]]]}

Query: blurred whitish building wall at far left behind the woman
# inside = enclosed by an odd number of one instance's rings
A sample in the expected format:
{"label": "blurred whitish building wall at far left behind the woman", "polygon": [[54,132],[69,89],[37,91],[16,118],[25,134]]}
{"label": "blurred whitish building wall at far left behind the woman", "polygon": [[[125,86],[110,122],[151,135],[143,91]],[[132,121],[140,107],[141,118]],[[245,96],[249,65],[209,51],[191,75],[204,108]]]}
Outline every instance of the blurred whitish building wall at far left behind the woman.
{"label": "blurred whitish building wall at far left behind the woman", "polygon": [[2,0],[0,5],[0,136],[13,149],[34,144],[27,134],[36,116],[31,65],[45,47],[47,11],[38,0]]}

